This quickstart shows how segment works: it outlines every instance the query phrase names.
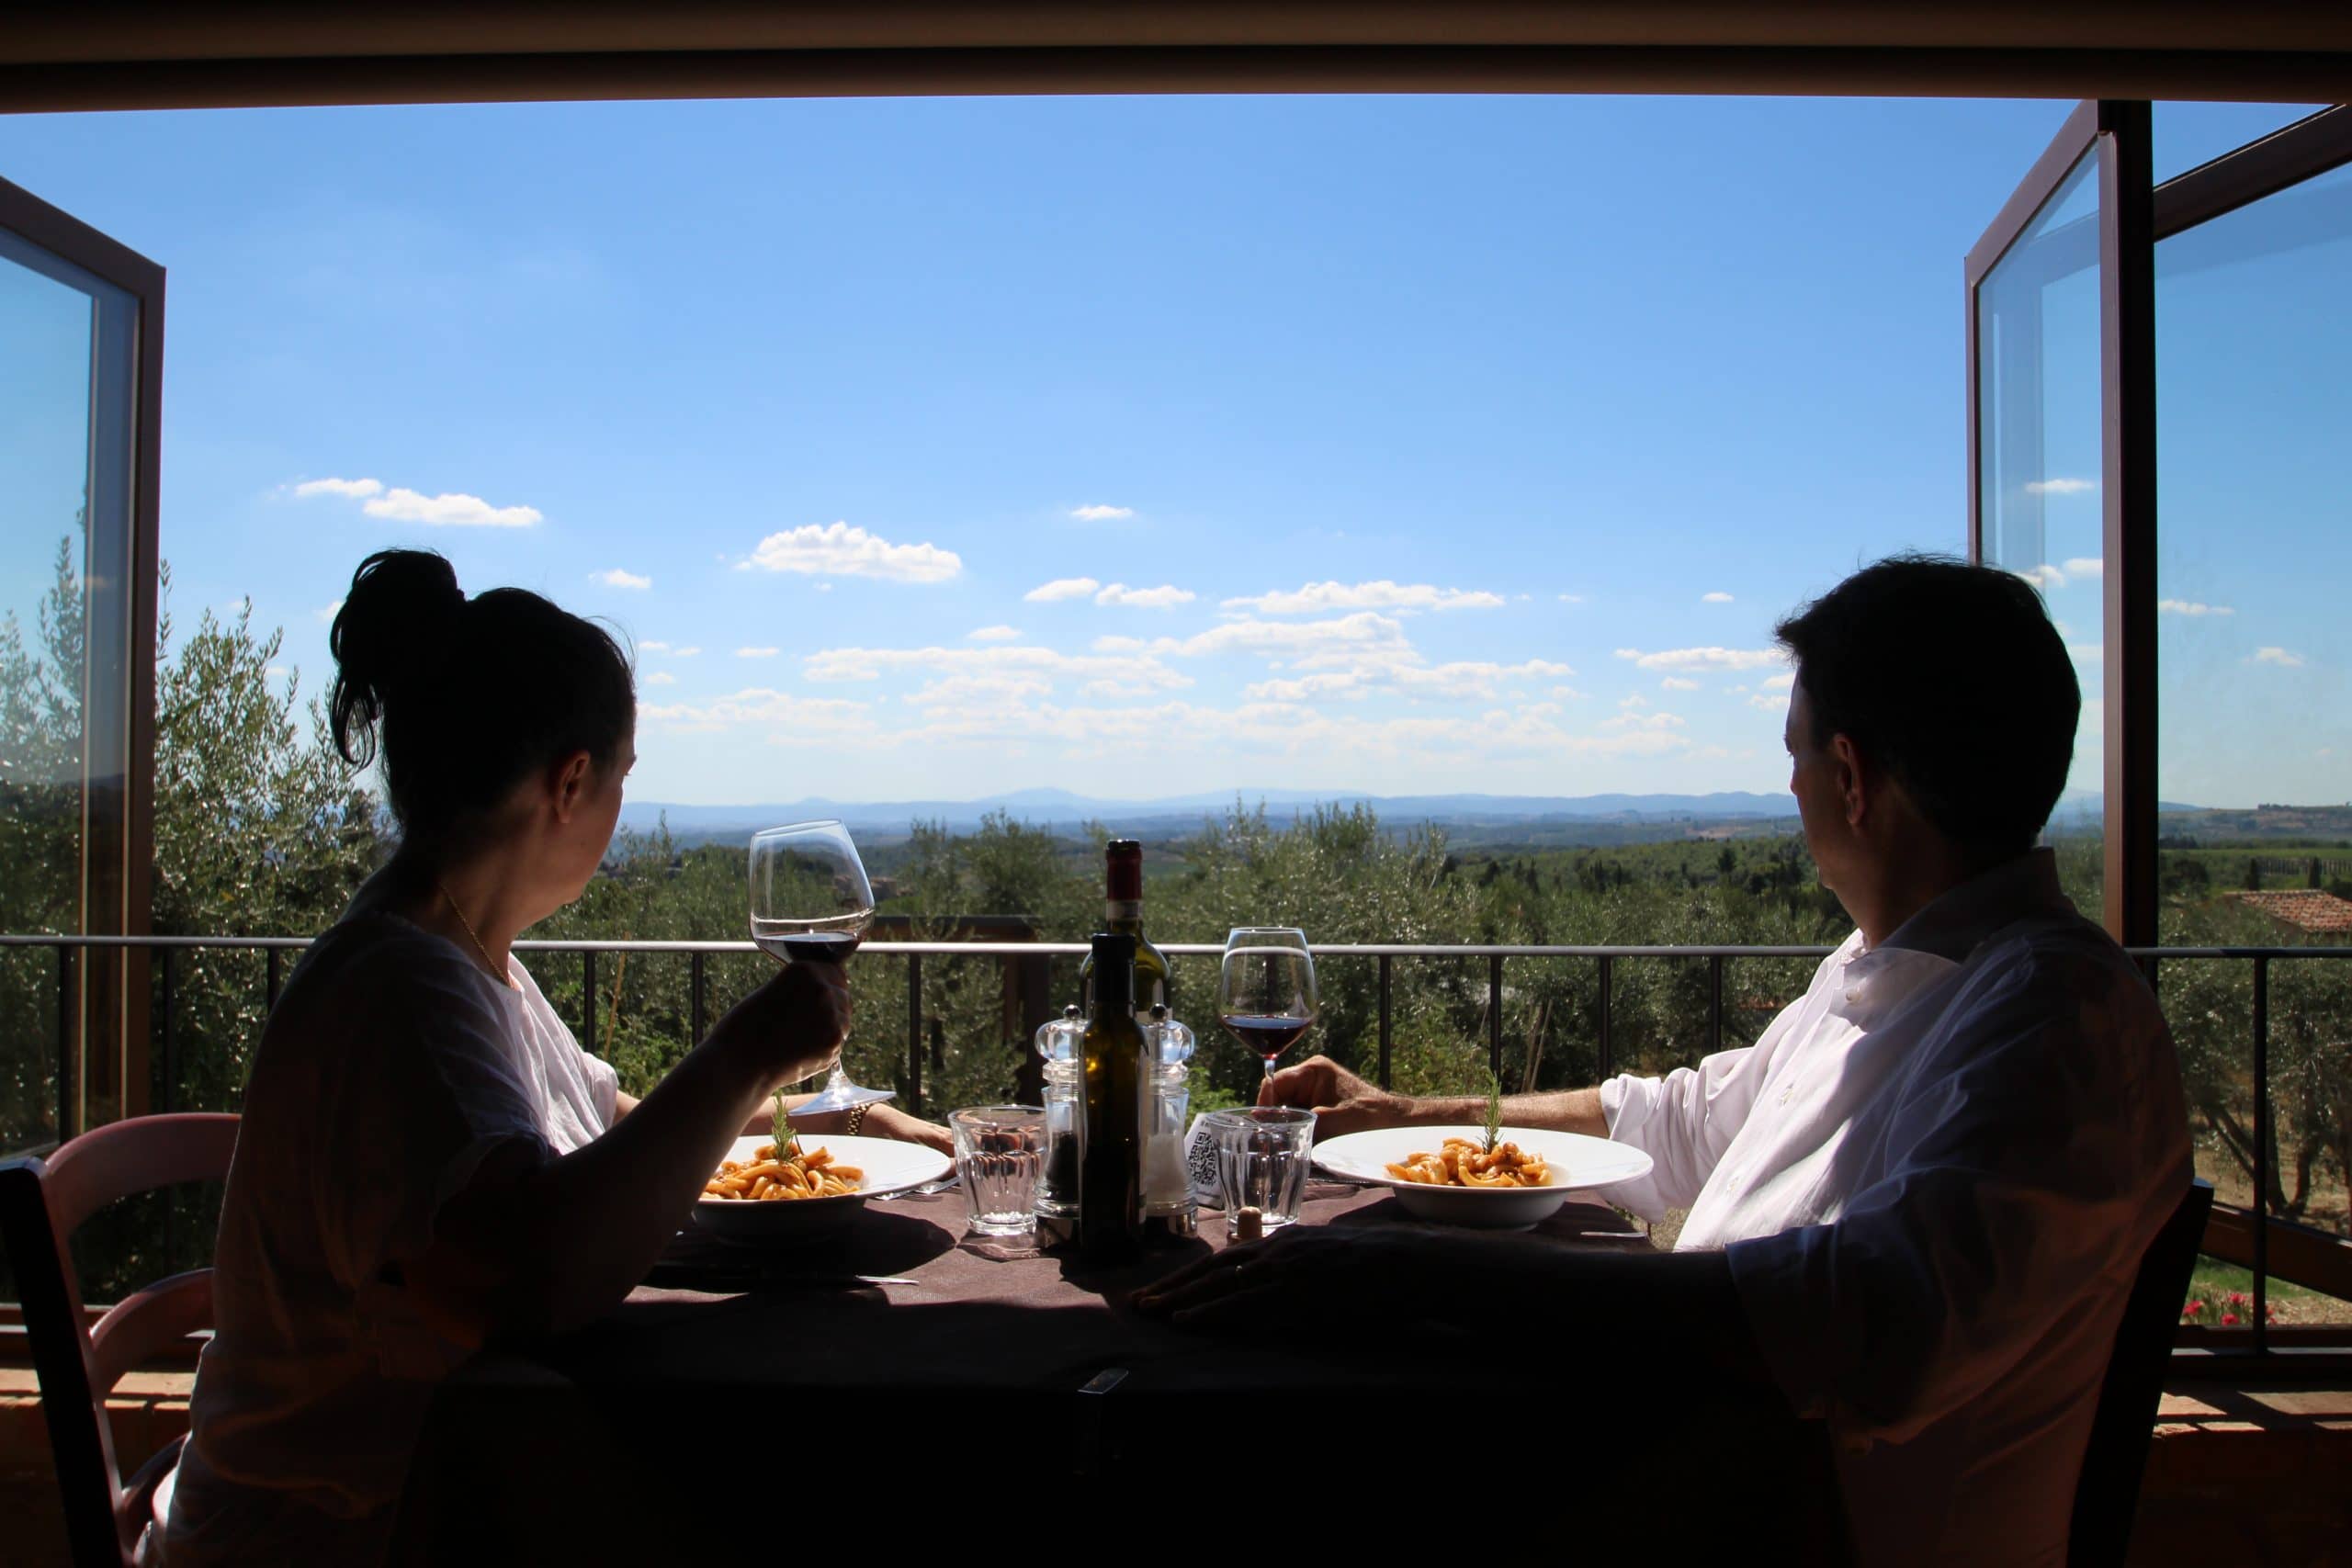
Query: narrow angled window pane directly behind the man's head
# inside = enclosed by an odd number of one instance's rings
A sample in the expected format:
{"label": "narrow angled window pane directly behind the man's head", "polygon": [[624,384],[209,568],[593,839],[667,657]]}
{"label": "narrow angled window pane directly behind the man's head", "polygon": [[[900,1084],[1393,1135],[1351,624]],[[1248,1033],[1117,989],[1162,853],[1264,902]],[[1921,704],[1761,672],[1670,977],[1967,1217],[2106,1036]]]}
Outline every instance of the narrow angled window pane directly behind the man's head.
{"label": "narrow angled window pane directly behind the man's head", "polygon": [[2098,158],[2086,155],[1976,289],[1985,559],[2042,588],[2074,654],[2082,731],[2051,818],[2074,903],[2100,907]]}

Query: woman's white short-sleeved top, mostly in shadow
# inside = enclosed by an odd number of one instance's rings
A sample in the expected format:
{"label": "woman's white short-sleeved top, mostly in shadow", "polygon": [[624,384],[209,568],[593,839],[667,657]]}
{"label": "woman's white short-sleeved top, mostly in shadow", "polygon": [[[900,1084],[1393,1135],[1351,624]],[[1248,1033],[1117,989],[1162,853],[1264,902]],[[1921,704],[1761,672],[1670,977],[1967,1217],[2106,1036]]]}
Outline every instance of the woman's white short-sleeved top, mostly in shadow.
{"label": "woman's white short-sleeved top, mostly in shadow", "polygon": [[[539,985],[390,914],[346,914],[254,1056],[162,1561],[381,1561],[433,1382],[470,1345],[400,1284],[440,1206],[508,1140],[612,1126],[614,1070]],[[155,1533],[143,1552],[153,1554]]]}

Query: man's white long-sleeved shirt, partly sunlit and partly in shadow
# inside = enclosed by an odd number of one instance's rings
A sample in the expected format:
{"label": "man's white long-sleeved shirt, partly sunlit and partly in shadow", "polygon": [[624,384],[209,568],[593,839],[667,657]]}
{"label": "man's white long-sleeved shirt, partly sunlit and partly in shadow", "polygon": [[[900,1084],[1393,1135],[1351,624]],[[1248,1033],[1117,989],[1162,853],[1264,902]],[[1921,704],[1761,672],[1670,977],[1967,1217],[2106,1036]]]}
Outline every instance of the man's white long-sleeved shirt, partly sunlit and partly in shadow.
{"label": "man's white long-sleeved shirt, partly sunlit and partly in shadow", "polygon": [[2140,1253],[2190,1185],[2171,1032],[2051,851],[1860,933],[1745,1051],[1602,1086],[1611,1190],[1724,1248],[1865,1563],[2063,1563]]}

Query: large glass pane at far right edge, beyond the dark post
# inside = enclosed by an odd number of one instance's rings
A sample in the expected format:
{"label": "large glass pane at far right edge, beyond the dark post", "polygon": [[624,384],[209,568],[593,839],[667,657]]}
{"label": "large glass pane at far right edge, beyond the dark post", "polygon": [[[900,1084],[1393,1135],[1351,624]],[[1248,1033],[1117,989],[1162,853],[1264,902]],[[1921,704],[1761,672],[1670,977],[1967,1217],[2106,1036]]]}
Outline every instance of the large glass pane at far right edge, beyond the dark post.
{"label": "large glass pane at far right edge, beyond the dark post", "polygon": [[[2352,169],[2157,247],[2161,938],[2340,945],[2352,926]],[[2244,971],[2246,966],[2234,966]],[[2218,985],[2218,983],[2213,983]],[[2352,964],[2272,966],[2274,1213],[2345,1234]],[[2176,1027],[2183,1013],[2173,1011]],[[2251,1194],[2251,976],[2183,1053],[2201,1166]],[[2213,1039],[2204,1039],[2211,1034]],[[2234,1034],[2234,1041],[2227,1037]],[[2286,1321],[2343,1302],[2281,1293]]]}

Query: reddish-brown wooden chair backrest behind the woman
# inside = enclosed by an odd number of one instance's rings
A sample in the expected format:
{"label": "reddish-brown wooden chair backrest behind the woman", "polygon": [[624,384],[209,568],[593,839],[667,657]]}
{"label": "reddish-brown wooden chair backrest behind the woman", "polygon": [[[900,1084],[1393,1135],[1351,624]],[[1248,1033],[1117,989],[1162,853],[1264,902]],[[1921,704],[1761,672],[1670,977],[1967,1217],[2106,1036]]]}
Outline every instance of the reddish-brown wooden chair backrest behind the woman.
{"label": "reddish-brown wooden chair backrest behind the woman", "polygon": [[212,1326],[212,1269],[153,1284],[87,1326],[68,1244],[82,1220],[115,1199],[226,1178],[235,1147],[235,1117],[191,1112],[113,1121],[47,1159],[0,1164],[0,1241],[24,1300],[66,1540],[85,1568],[129,1561],[155,1486],[179,1458],[179,1443],[169,1443],[125,1479],[106,1394],[158,1349]]}

